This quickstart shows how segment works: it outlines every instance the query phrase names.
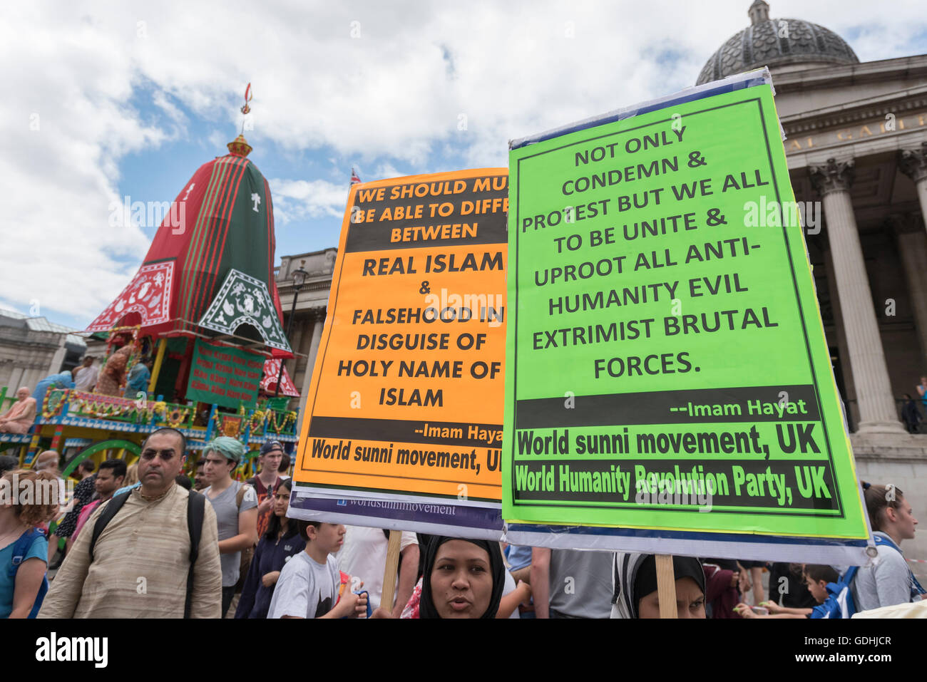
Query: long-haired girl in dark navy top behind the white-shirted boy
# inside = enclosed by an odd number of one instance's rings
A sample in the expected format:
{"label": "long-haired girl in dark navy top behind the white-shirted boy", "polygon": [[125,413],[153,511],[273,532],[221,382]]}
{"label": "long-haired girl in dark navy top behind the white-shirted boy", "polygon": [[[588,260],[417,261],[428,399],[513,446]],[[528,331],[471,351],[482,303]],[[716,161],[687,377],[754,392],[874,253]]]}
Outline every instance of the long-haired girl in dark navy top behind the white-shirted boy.
{"label": "long-haired girl in dark navy top behind the white-shirted boy", "polygon": [[254,551],[235,618],[266,618],[280,572],[295,554],[306,549],[306,541],[299,537],[296,520],[286,518],[292,485],[291,481],[285,480],[277,488],[271,523]]}

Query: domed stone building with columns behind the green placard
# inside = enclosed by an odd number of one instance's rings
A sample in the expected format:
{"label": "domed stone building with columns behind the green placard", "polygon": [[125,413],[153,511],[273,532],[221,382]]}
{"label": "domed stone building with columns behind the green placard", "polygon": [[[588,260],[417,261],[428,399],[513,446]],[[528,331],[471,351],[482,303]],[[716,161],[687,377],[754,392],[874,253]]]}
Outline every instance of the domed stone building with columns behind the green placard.
{"label": "domed stone building with columns behind the green placard", "polygon": [[[899,419],[927,374],[927,55],[860,62],[817,24],[770,19],[763,0],[748,15],[698,82],[769,67],[795,200],[823,215],[806,245],[857,474],[894,483],[927,520],[927,434]],[[927,532],[905,551],[927,559]]]}

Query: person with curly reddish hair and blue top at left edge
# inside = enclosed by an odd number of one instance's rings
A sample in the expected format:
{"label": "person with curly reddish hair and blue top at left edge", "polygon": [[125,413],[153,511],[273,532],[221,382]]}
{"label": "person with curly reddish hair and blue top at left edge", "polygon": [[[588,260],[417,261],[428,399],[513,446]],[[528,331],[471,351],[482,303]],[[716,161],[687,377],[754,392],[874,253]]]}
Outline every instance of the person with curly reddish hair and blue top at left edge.
{"label": "person with curly reddish hair and blue top at left edge", "polygon": [[[34,618],[48,590],[48,541],[36,526],[57,512],[57,476],[19,469],[6,472],[3,479],[13,494],[0,504],[0,618]],[[47,483],[40,488],[37,481]],[[28,504],[20,504],[17,493],[25,482],[44,489],[48,499],[30,495]]]}

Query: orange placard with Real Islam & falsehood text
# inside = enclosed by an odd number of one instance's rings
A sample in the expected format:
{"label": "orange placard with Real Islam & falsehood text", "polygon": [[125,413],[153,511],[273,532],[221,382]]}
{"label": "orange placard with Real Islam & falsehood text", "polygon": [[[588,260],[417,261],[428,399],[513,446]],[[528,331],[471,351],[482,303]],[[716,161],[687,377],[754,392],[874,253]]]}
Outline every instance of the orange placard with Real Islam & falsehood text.
{"label": "orange placard with Real Islam & falsehood text", "polygon": [[506,169],[351,188],[299,489],[500,501],[507,210]]}

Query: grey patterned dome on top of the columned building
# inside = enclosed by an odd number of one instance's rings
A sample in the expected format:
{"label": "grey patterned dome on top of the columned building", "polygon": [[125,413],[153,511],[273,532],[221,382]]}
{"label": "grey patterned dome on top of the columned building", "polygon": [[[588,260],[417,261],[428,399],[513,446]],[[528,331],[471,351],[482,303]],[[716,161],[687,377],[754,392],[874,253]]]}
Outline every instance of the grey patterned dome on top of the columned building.
{"label": "grey patterned dome on top of the columned building", "polygon": [[844,39],[823,26],[800,19],[769,19],[769,6],[763,0],[756,0],[747,14],[750,26],[731,36],[705,62],[696,85],[764,66],[792,70],[798,65],[859,63]]}

